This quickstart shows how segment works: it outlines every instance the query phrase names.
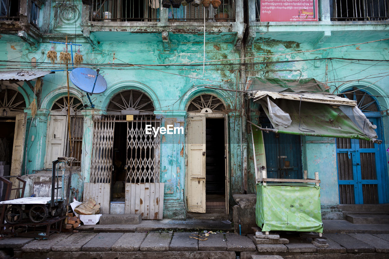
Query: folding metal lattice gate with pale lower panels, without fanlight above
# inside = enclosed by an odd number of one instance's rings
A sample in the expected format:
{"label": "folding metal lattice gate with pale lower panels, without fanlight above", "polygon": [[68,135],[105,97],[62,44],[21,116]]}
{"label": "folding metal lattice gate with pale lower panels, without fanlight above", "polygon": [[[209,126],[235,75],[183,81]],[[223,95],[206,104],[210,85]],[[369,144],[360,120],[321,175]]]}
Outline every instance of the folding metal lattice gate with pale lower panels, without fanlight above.
{"label": "folding metal lattice gate with pale lower panels, without fanlight above", "polygon": [[93,118],[90,183],[84,197],[94,198],[101,211],[109,213],[115,124],[127,124],[126,184],[124,213],[142,214],[142,219],[162,219],[164,184],[159,183],[160,135],[146,134],[146,125],[157,128],[155,115],[101,115]]}

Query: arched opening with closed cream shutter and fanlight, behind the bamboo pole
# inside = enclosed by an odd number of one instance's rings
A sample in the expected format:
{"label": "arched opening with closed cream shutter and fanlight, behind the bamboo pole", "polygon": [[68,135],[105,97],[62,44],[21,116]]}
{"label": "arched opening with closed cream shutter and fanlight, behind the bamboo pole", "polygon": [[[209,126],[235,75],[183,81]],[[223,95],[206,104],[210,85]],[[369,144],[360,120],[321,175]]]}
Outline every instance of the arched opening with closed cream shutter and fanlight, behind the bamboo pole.
{"label": "arched opening with closed cream shutter and fanlight, behind the bamboo pole", "polygon": [[[70,107],[70,135],[68,124],[68,107]],[[45,168],[51,168],[53,161],[60,156],[76,158],[73,166],[81,166],[82,136],[84,116],[81,114],[84,105],[77,97],[61,96],[54,101],[50,109],[49,124],[47,125]],[[71,154],[72,147],[73,154]]]}

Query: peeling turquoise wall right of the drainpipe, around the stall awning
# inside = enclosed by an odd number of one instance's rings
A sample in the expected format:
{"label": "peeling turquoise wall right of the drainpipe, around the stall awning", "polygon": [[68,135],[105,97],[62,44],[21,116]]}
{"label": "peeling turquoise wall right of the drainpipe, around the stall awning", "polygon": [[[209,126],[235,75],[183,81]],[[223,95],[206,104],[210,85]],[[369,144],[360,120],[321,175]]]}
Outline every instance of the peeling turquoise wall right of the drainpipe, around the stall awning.
{"label": "peeling turquoise wall right of the drainpipe, around the stall awning", "polygon": [[[281,26],[282,27],[282,26]],[[279,28],[282,31],[282,28]],[[307,32],[294,32],[294,39],[301,37]],[[314,52],[312,49],[327,48],[334,46],[341,46],[357,42],[363,42],[365,39],[355,38],[356,32],[344,33],[344,35],[331,36],[326,39],[324,43],[298,43],[291,41],[276,41],[269,42],[262,39],[262,37],[256,38],[256,42],[253,44],[252,50],[246,50],[246,56],[262,56],[262,55],[275,55],[274,57],[257,58],[255,61],[283,61],[283,60],[302,60],[302,59],[315,59],[315,58],[353,58],[353,59],[387,59],[388,56],[388,43],[373,42],[370,44],[356,45],[340,47],[335,49],[325,49]],[[372,32],[373,33],[373,32]],[[380,32],[383,33],[383,32]],[[352,36],[354,35],[354,36]],[[387,38],[388,32],[382,35],[382,38]],[[278,36],[280,37],[280,36]],[[350,38],[354,37],[354,38]],[[288,33],[284,35],[284,40],[290,39]],[[302,51],[302,53],[294,52]],[[290,53],[290,54],[287,54]],[[386,75],[389,66],[387,63],[379,63],[379,66],[374,62],[358,62],[358,61],[345,61],[345,60],[322,60],[322,61],[302,61],[302,62],[289,62],[289,63],[275,63],[265,65],[252,65],[247,77],[264,77],[264,78],[280,78],[280,79],[304,79],[315,78],[321,82],[328,82],[330,86],[330,92],[334,94],[341,93],[346,89],[350,89],[353,85],[363,86],[363,90],[370,94],[383,96],[377,97],[380,105],[380,110],[385,112],[382,115],[382,125],[384,129],[384,138],[388,139],[389,131],[387,126],[389,124],[386,110],[388,109],[388,98],[384,97],[389,94],[387,85],[389,84],[389,78]],[[354,80],[354,81],[353,81]],[[263,89],[266,91],[266,89]],[[255,122],[258,118],[258,107],[251,103],[251,115]],[[257,117],[255,117],[257,116]],[[249,131],[248,131],[249,132]],[[266,134],[265,134],[266,136]],[[247,135],[248,139],[251,139],[251,135]],[[303,170],[308,170],[308,177],[314,178],[314,172],[319,172],[319,178],[321,179],[321,203],[322,205],[336,205],[339,203],[338,194],[338,175],[336,167],[336,144],[333,138],[319,138],[319,137],[305,137],[302,140],[302,162]],[[381,144],[380,149],[386,149],[385,144]],[[386,152],[385,152],[386,153]],[[254,179],[252,157],[252,147],[249,145],[249,179]],[[384,155],[386,160],[382,161],[384,191],[386,198],[384,202],[387,202],[388,193],[385,186],[387,186],[387,154]],[[251,186],[251,190],[252,190]]]}

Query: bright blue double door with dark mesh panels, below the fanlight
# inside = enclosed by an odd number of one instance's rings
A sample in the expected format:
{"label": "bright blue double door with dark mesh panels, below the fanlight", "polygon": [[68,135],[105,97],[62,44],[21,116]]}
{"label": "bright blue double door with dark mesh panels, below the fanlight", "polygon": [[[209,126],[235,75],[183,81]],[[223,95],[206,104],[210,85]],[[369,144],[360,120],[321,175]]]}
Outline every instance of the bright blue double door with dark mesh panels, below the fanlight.
{"label": "bright blue double door with dark mesh panels, below the fanlight", "polygon": [[[368,119],[382,139],[379,117]],[[380,148],[384,146],[366,140],[336,139],[340,204],[382,203]]]}

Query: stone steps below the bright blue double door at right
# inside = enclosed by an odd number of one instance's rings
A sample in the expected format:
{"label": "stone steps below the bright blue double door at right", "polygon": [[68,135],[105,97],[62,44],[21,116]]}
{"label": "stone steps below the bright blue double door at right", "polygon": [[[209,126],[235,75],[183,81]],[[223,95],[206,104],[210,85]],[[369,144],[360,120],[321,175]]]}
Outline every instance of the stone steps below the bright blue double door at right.
{"label": "stone steps below the bright blue double door at right", "polygon": [[389,204],[342,204],[338,208],[353,224],[389,224]]}

